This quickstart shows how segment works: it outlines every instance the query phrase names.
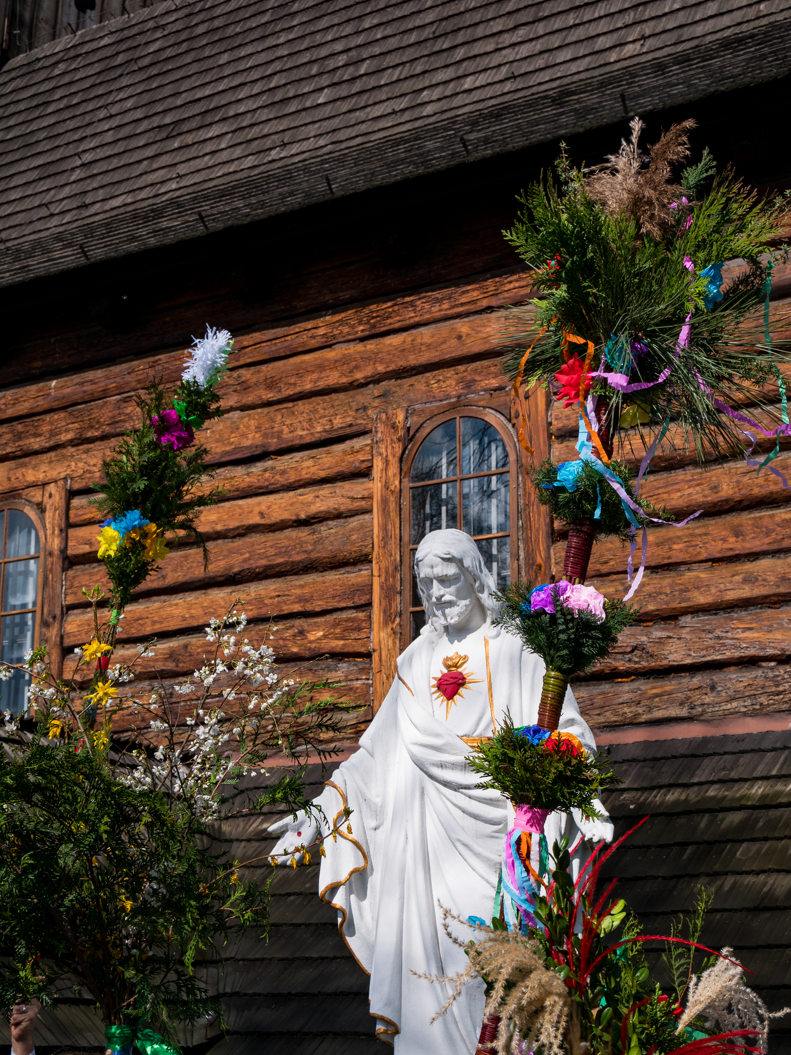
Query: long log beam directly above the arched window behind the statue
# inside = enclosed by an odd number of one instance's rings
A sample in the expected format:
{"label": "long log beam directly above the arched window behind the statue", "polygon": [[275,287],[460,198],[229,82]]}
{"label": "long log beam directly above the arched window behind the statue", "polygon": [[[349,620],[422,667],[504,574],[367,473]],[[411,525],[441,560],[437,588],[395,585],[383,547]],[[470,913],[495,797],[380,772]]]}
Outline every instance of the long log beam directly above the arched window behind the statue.
{"label": "long log beam directly above the arched window behind the statue", "polygon": [[[505,388],[499,361],[488,359],[298,403],[231,413],[201,429],[201,439],[209,447],[209,463],[220,465],[370,433],[374,409],[429,403],[448,392],[462,399]],[[64,476],[73,491],[85,491],[93,481],[100,482],[101,460],[114,445],[115,440],[101,440],[0,462],[0,494]]]}

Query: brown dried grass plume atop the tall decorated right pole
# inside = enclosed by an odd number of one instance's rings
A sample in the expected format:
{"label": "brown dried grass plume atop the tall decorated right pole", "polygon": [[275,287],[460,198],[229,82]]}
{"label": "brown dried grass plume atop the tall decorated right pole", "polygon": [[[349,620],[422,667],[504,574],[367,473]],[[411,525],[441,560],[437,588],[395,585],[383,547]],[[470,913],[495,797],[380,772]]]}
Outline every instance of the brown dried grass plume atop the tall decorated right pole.
{"label": "brown dried grass plume atop the tall decorated right pole", "polygon": [[601,202],[611,215],[623,214],[637,222],[639,231],[661,237],[677,219],[681,209],[682,188],[671,184],[672,166],[690,155],[689,133],[694,120],[672,124],[658,142],[649,147],[649,154],[639,148],[643,123],[632,118],[632,138],[621,140],[617,154],[610,154],[606,161],[586,170],[585,190],[595,202]]}

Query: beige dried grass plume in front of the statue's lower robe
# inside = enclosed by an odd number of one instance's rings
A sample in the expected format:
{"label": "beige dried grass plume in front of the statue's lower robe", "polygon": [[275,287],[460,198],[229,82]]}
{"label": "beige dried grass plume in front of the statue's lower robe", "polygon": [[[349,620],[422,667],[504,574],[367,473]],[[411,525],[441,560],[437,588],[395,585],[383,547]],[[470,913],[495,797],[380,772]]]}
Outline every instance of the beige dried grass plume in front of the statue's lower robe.
{"label": "beige dried grass plume in front of the statue's lower robe", "polygon": [[[462,974],[449,978],[418,975],[432,982],[452,982],[454,991],[431,1019],[437,1021],[450,1008],[467,982],[485,977],[493,985],[484,1015],[499,1015],[500,1029],[495,1041],[500,1055],[541,1048],[543,1055],[562,1055],[563,1037],[568,1025],[568,990],[554,971],[544,966],[543,955],[535,942],[508,931],[493,931],[484,924],[471,924],[442,908],[442,925],[454,944],[463,948],[469,963]],[[448,920],[472,927],[481,940],[472,946],[450,932]]]}

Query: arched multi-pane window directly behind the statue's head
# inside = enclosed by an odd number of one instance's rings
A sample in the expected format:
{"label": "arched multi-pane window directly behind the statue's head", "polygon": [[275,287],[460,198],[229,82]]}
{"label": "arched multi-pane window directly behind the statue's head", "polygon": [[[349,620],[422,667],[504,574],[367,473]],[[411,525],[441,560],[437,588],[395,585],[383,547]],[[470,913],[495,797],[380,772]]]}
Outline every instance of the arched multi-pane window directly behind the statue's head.
{"label": "arched multi-pane window directly behind the statue's head", "polygon": [[504,419],[463,407],[426,422],[404,464],[404,644],[425,621],[412,562],[431,531],[471,535],[498,587],[517,578],[516,446]]}

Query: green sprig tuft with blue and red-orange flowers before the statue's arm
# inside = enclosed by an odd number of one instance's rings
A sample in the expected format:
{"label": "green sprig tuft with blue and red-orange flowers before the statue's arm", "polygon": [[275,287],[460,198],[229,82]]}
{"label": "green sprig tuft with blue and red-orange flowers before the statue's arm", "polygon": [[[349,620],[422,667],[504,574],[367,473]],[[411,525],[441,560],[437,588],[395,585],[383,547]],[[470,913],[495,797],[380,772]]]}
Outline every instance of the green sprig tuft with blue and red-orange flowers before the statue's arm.
{"label": "green sprig tuft with blue and red-orange flowers before the statue's arm", "polygon": [[495,788],[515,806],[600,817],[594,799],[620,783],[604,755],[591,757],[562,734],[537,742],[536,729],[515,728],[506,715],[497,735],[482,741],[468,759],[472,771],[485,778],[478,787]]}

